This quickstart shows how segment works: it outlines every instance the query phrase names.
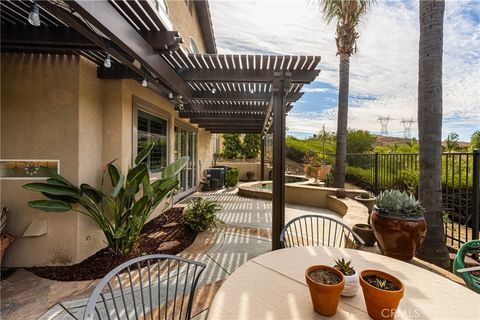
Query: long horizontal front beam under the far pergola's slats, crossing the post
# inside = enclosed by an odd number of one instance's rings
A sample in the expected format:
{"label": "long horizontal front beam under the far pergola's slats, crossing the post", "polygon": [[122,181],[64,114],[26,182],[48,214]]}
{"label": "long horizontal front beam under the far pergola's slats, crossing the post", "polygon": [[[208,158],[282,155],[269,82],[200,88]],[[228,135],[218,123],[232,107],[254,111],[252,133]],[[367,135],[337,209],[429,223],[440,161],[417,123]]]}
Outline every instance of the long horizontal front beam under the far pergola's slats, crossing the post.
{"label": "long horizontal front beam under the far pergola's slats, crossing the post", "polygon": [[[293,70],[290,83],[310,83],[320,70]],[[194,82],[265,82],[272,81],[272,70],[262,69],[187,69],[180,72],[185,81]]]}

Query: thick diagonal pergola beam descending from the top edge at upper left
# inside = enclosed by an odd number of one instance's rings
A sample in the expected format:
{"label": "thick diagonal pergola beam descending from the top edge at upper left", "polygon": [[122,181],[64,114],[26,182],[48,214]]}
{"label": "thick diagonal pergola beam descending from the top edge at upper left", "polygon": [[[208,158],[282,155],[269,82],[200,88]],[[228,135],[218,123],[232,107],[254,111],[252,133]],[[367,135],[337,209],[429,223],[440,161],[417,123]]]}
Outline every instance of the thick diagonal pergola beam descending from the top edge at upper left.
{"label": "thick diagonal pergola beam descending from the top edge at upper left", "polygon": [[108,1],[72,0],[67,3],[177,94],[191,97],[192,89]]}

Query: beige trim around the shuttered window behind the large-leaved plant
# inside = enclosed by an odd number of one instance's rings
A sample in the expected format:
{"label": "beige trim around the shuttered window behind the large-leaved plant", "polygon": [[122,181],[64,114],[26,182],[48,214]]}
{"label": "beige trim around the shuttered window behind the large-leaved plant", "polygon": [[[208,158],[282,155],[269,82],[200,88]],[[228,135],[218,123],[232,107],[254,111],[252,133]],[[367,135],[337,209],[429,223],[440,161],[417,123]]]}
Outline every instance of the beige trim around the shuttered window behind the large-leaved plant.
{"label": "beige trim around the shuttered window behind the large-leaved plant", "polygon": [[[148,113],[154,117],[157,117],[159,119],[162,119],[166,121],[167,123],[167,161],[166,164],[169,164],[169,159],[170,159],[170,152],[171,152],[171,146],[170,146],[170,135],[172,134],[170,132],[170,113],[168,113],[165,110],[160,109],[159,107],[155,106],[154,104],[151,104],[139,97],[133,96],[133,112],[132,112],[132,121],[133,121],[133,134],[132,134],[132,167],[135,165],[135,158],[137,156],[137,149],[138,149],[138,111],[143,111],[145,113]],[[156,180],[159,179],[162,175],[162,172],[150,172],[150,179],[151,180]]]}

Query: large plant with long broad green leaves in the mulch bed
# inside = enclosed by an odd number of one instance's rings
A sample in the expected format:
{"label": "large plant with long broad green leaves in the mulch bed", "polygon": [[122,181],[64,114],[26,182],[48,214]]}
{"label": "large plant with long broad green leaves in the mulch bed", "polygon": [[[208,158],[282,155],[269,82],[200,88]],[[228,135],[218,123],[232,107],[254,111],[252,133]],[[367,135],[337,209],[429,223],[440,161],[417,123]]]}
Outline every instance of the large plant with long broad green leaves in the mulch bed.
{"label": "large plant with long broad green leaves in the mulch bed", "polygon": [[108,193],[85,183],[77,187],[54,170],[42,167],[48,176],[47,183],[28,183],[23,187],[41,192],[49,199],[30,201],[28,205],[47,212],[80,212],[102,229],[115,255],[127,254],[135,247],[155,208],[173,194],[178,185],[176,176],[188,162],[188,157],[183,157],[166,166],[161,179],[151,183],[148,167],[142,161],[153,146],[150,143],[142,149],[126,176],[119,172],[115,161],[107,164],[103,175],[108,173],[110,178],[111,191]]}

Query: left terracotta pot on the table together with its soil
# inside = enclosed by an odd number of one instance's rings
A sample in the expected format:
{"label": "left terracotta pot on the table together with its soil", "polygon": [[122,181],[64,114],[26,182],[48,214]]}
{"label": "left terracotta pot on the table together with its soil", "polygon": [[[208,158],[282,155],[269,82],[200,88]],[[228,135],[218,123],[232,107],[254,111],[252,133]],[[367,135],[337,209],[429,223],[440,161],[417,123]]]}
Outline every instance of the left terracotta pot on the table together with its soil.
{"label": "left terracotta pot on the table together with its soil", "polygon": [[333,316],[345,285],[343,273],[329,266],[314,265],[305,271],[305,279],[315,312]]}

